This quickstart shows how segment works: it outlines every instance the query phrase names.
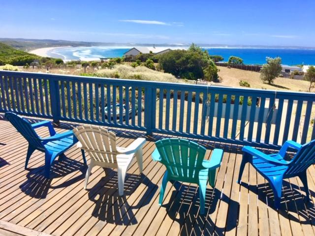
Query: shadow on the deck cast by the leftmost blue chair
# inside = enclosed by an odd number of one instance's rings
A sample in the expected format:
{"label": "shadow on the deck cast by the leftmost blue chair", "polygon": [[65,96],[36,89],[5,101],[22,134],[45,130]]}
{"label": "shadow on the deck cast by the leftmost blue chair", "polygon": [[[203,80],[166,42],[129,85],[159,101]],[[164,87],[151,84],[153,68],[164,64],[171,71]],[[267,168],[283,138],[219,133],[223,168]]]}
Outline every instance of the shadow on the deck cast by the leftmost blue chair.
{"label": "shadow on the deck cast by the leftmost blue chair", "polygon": [[[22,192],[31,196],[32,198],[44,199],[48,194],[49,189],[64,188],[71,184],[84,179],[87,166],[81,162],[65,157],[62,161],[55,160],[51,167],[51,177],[48,179],[44,177],[44,166],[34,169],[28,168],[30,172],[27,174],[27,180],[19,187]],[[63,181],[62,177],[80,171],[81,175],[76,177],[70,177]],[[62,178],[62,181],[58,180],[57,185],[51,185],[54,178]]]}

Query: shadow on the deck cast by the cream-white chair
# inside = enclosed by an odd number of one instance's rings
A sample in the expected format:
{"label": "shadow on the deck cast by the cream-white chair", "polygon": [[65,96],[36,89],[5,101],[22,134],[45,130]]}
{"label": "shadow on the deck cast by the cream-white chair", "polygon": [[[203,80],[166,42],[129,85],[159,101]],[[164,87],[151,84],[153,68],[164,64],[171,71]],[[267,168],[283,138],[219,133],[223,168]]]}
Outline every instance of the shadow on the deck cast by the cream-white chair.
{"label": "shadow on the deck cast by the cream-white chair", "polygon": [[[138,221],[133,213],[150,203],[158,190],[144,174],[126,174],[124,196],[118,195],[117,172],[103,168],[105,177],[89,190],[89,199],[95,203],[92,215],[100,221],[116,225],[134,225]],[[141,189],[144,184],[145,189]],[[88,185],[89,186],[89,185]],[[141,193],[138,193],[138,191]],[[131,194],[134,194],[131,196]],[[139,200],[137,197],[141,196]]]}

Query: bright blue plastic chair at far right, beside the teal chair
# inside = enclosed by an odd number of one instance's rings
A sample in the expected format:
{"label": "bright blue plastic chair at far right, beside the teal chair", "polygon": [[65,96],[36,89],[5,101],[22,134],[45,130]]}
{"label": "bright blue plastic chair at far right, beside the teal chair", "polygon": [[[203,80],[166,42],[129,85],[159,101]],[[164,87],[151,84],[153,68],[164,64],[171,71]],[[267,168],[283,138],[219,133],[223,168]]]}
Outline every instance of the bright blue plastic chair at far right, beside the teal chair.
{"label": "bright blue plastic chair at far right, beside the teal chair", "polygon": [[[294,148],[297,152],[291,160],[286,161],[284,157],[288,148]],[[294,141],[286,141],[276,154],[267,155],[249,146],[244,146],[242,151],[244,154],[238,183],[241,182],[245,164],[249,162],[270,183],[275,195],[275,207],[277,209],[280,208],[284,178],[299,177],[304,185],[306,200],[309,200],[306,171],[309,166],[315,163],[315,140],[304,145]]]}

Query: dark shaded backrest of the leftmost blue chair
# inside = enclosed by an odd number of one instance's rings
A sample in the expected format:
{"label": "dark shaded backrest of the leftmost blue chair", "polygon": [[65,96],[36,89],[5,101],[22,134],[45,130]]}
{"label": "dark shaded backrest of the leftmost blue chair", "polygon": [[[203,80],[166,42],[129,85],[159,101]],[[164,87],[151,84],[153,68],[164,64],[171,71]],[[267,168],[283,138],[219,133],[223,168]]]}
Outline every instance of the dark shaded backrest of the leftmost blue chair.
{"label": "dark shaded backrest of the leftmost blue chair", "polygon": [[32,127],[32,124],[25,118],[13,112],[6,112],[5,118],[17,129],[17,131],[29,142],[29,144],[38,149],[45,149],[39,136]]}

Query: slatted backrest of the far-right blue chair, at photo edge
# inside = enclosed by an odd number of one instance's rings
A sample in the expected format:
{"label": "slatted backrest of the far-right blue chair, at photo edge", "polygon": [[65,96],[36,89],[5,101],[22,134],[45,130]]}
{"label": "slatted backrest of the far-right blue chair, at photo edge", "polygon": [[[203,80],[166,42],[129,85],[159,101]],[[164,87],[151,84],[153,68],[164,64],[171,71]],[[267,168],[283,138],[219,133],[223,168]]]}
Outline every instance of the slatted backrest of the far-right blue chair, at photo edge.
{"label": "slatted backrest of the far-right blue chair, at photo edge", "polygon": [[315,140],[304,144],[293,157],[286,175],[294,175],[304,172],[310,165],[315,163]]}

